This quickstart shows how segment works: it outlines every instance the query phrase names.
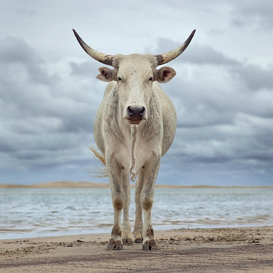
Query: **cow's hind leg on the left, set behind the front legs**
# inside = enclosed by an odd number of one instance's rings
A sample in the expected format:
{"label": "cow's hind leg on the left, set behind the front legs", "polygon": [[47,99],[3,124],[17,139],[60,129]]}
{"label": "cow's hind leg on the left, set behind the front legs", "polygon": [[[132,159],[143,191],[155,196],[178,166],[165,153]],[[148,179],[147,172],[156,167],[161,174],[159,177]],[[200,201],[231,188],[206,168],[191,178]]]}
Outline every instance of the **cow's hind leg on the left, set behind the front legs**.
{"label": "cow's hind leg on the left, set behind the front legs", "polygon": [[130,189],[130,180],[129,180],[128,171],[125,171],[125,170],[121,171],[121,181],[122,181],[122,187],[125,193],[125,203],[123,208],[123,222],[122,222],[122,228],[123,228],[122,242],[123,244],[127,244],[128,246],[130,246],[130,245],[133,245],[133,239],[132,239],[132,228],[131,228],[130,219],[129,219],[131,189]]}

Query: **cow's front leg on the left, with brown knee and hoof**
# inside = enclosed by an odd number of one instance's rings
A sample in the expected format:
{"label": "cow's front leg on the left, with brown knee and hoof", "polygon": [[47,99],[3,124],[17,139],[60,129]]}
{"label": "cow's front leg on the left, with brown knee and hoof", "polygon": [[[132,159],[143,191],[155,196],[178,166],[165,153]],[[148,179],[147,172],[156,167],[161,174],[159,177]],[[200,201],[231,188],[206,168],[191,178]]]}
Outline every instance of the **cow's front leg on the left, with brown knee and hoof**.
{"label": "cow's front leg on the left, with brown knee and hoof", "polygon": [[[106,157],[107,158],[107,157]],[[121,171],[115,158],[106,160],[108,176],[111,185],[112,204],[114,208],[114,225],[107,250],[122,250],[123,230],[121,225],[121,213],[124,207],[125,193],[121,185]]]}

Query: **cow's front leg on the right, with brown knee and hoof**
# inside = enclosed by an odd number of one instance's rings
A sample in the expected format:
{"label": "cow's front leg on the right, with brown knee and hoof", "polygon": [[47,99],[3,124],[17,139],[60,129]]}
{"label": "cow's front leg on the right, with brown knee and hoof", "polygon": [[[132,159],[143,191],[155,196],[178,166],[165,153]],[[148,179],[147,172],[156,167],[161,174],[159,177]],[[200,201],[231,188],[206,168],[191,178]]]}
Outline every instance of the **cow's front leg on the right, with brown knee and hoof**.
{"label": "cow's front leg on the right, with brown knee and hoof", "polygon": [[154,237],[151,221],[151,209],[153,205],[154,186],[160,166],[160,155],[154,155],[149,159],[144,169],[144,184],[140,195],[140,203],[143,209],[143,250],[158,250],[158,244]]}

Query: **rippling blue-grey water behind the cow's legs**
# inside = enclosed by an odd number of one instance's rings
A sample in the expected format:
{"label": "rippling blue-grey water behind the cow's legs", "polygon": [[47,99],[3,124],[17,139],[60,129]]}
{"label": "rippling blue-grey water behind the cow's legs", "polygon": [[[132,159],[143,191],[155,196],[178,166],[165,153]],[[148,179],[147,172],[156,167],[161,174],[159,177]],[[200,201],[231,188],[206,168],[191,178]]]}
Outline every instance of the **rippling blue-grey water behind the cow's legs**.
{"label": "rippling blue-grey water behind the cow's legs", "polygon": [[[156,189],[152,220],[157,230],[273,225],[273,189]],[[112,224],[110,189],[0,190],[0,239],[110,234]]]}

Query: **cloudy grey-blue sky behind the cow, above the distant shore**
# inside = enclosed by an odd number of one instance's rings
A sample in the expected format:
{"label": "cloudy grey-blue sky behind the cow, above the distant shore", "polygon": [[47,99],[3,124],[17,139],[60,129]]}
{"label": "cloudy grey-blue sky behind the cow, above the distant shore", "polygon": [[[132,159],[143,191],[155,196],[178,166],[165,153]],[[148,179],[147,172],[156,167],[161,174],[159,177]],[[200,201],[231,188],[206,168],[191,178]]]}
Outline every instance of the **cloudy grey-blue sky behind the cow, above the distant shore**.
{"label": "cloudy grey-blue sky behind the cow, above the distant shore", "polygon": [[177,110],[158,184],[273,186],[272,0],[1,0],[0,183],[107,182],[93,124],[105,54],[162,54],[196,34],[162,84]]}

